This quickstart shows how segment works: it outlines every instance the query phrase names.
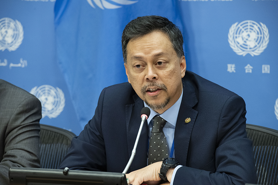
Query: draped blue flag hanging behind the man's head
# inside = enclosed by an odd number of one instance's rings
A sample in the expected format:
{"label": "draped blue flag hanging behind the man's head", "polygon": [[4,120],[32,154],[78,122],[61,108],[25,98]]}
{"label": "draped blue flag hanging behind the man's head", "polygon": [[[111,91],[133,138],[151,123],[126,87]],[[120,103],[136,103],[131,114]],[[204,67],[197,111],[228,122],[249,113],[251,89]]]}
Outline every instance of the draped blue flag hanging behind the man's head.
{"label": "draped blue flag hanging behind the man's head", "polygon": [[[57,60],[82,127],[94,115],[101,90],[126,82],[121,35],[131,20],[168,18],[182,31],[178,1],[57,0]],[[123,89],[124,91],[124,89]]]}

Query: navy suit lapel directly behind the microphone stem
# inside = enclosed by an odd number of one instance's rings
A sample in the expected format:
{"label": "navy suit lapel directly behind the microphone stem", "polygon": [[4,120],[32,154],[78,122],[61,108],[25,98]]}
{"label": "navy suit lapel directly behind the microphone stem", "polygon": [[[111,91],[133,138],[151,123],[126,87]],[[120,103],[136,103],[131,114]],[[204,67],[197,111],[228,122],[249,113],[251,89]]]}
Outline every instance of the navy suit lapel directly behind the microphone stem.
{"label": "navy suit lapel directly behind the microphone stem", "polygon": [[[137,96],[137,94],[133,95],[133,99],[135,103],[126,105],[125,109],[129,158],[131,156],[141,123],[141,109],[144,107],[144,102]],[[148,124],[147,121],[145,121],[136,148],[136,154],[128,170],[128,173],[141,169],[147,165],[147,142]]]}

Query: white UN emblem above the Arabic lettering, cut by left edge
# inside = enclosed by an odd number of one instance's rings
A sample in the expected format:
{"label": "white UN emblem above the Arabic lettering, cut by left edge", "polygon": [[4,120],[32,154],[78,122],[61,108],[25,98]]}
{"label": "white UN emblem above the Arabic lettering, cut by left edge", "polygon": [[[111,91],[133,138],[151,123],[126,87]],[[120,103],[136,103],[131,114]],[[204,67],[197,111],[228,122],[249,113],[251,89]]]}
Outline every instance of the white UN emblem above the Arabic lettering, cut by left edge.
{"label": "white UN emblem above the Arabic lettering, cut by left edge", "polygon": [[18,20],[0,19],[0,50],[15,51],[23,40],[23,27]]}

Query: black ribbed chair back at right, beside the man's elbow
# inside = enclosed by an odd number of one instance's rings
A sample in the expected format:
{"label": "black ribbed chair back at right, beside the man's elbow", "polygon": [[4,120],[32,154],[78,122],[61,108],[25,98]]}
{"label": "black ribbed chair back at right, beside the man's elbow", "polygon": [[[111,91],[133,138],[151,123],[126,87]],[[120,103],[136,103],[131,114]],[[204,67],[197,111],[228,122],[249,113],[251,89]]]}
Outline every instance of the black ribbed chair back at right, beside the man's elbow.
{"label": "black ribbed chair back at right, beside the man's elbow", "polygon": [[278,131],[250,124],[246,131],[253,141],[257,184],[278,185]]}

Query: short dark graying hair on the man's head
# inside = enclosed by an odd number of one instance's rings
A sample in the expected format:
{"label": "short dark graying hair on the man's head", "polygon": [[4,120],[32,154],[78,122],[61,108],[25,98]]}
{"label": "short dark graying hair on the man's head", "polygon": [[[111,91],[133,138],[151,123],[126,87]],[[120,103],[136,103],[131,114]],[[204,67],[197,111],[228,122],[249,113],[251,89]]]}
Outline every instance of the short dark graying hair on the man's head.
{"label": "short dark graying hair on the man's head", "polygon": [[124,28],[122,35],[122,50],[124,62],[126,62],[126,47],[131,39],[137,39],[143,35],[153,31],[162,31],[166,34],[178,57],[182,57],[183,53],[183,35],[179,28],[165,17],[149,15],[137,17],[130,21]]}

